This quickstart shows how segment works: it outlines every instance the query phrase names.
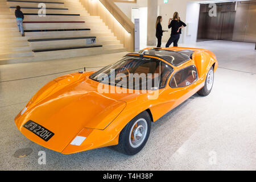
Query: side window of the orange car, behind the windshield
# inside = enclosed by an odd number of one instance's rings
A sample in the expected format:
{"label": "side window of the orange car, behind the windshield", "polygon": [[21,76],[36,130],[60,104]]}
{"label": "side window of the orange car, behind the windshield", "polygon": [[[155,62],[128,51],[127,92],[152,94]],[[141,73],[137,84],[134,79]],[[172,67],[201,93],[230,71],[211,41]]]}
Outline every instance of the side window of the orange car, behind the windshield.
{"label": "side window of the orange car, behind the windshield", "polygon": [[181,69],[170,81],[171,88],[178,88],[191,85],[197,80],[197,71],[194,65]]}

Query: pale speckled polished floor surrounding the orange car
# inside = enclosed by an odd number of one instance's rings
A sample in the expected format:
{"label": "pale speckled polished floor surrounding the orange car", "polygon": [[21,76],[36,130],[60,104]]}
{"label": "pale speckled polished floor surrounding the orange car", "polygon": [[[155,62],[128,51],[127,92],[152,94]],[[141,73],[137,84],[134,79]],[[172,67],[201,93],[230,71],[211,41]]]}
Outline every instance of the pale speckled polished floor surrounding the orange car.
{"label": "pale speckled polished floor surrounding the orange car", "polygon": [[[110,147],[59,154],[31,142],[14,124],[48,81],[77,68],[100,69],[125,52],[0,65],[0,170],[256,170],[255,45],[215,40],[179,46],[216,54],[220,68],[212,93],[195,94],[153,123],[146,146],[135,156]],[[45,165],[38,164],[39,151],[46,152]]]}

